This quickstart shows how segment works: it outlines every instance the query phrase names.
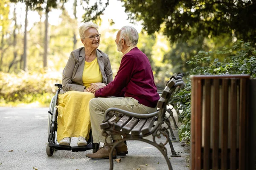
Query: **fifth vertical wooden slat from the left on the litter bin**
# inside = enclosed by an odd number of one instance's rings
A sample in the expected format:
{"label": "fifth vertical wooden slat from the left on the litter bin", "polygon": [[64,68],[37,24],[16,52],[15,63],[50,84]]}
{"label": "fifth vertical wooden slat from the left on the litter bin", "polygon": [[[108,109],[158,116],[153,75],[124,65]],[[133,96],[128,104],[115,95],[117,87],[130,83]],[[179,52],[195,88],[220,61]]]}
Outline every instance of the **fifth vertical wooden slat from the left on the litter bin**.
{"label": "fifth vertical wooden slat from the left on the litter bin", "polygon": [[230,170],[236,170],[236,117],[237,117],[237,80],[231,80],[230,93]]}

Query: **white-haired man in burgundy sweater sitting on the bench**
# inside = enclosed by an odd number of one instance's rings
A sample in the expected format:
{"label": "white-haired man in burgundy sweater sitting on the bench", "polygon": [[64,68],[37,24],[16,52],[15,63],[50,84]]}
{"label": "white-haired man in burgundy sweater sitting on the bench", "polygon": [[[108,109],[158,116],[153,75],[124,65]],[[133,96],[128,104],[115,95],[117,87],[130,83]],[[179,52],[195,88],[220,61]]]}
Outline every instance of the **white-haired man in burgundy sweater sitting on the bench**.
{"label": "white-haired man in burgundy sweater sitting on the bench", "polygon": [[[122,27],[116,35],[117,50],[123,53],[119,70],[115,79],[106,87],[95,92],[95,97],[89,102],[90,119],[92,125],[93,142],[105,142],[100,124],[108,108],[120,108],[135,113],[152,113],[157,110],[159,99],[157,87],[148,57],[137,48],[139,35],[132,26]],[[91,90],[93,92],[93,89]],[[108,97],[107,96],[124,97]],[[121,136],[108,137],[107,142],[119,140]],[[108,159],[110,147],[104,144],[96,153],[87,154],[91,159]],[[113,158],[116,155],[128,153],[125,143],[116,146]]]}

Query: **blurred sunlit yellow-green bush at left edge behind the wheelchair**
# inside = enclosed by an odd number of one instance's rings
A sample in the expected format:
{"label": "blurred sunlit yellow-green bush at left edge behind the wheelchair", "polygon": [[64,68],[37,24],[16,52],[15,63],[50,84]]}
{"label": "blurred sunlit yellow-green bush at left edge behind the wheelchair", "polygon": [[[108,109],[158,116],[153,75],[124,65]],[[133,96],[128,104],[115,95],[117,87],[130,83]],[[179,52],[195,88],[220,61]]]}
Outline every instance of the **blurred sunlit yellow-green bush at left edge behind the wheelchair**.
{"label": "blurred sunlit yellow-green bush at left edge behind the wheelchair", "polygon": [[55,94],[55,83],[61,83],[61,74],[49,72],[8,74],[0,72],[0,105],[40,102],[49,105]]}

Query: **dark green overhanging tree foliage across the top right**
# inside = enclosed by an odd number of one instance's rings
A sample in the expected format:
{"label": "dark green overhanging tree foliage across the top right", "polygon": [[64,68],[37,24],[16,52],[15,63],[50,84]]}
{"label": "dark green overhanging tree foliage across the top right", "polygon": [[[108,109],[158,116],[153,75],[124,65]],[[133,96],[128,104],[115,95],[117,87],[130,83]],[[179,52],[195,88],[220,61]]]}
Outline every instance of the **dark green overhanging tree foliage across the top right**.
{"label": "dark green overhanging tree foliage across the top right", "polygon": [[[256,42],[254,0],[121,0],[131,20],[142,20],[153,34],[164,25],[171,42],[186,42],[198,36],[235,34]],[[235,32],[233,32],[235,31]]]}

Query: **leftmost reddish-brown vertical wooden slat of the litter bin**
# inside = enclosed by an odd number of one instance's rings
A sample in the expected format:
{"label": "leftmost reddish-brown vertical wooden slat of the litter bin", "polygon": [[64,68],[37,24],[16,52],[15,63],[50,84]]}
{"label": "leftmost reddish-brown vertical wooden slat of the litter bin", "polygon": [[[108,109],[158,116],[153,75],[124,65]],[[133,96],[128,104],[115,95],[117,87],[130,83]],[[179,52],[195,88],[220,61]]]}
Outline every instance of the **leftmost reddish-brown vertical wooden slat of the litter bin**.
{"label": "leftmost reddish-brown vertical wooden slat of the litter bin", "polygon": [[202,146],[202,81],[196,80],[195,94],[195,170],[201,170],[201,146]]}

